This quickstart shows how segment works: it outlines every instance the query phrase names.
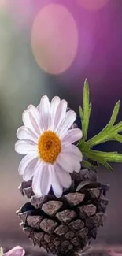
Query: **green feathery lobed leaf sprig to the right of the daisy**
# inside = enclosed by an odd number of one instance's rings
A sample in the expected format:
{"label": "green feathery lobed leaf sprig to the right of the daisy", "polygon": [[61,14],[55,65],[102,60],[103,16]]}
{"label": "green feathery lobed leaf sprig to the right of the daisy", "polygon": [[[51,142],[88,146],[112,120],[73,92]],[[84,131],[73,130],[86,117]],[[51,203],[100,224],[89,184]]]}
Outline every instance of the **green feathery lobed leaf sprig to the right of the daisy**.
{"label": "green feathery lobed leaf sprig to the right of the daisy", "polygon": [[100,143],[105,143],[108,141],[117,141],[122,143],[122,135],[119,133],[122,132],[122,121],[118,124],[115,124],[116,118],[118,116],[120,109],[120,101],[116,103],[113,109],[112,116],[109,120],[109,123],[99,132],[97,135],[94,135],[93,138],[87,140],[87,130],[89,126],[89,120],[91,116],[91,103],[89,102],[89,85],[87,80],[85,80],[83,88],[83,109],[79,107],[79,115],[82,122],[82,131],[83,138],[79,140],[79,150],[82,151],[83,157],[87,160],[83,160],[82,165],[85,168],[93,169],[94,165],[91,164],[91,161],[95,161],[101,165],[104,165],[107,169],[112,169],[109,162],[122,162],[122,154],[118,152],[102,152],[93,150],[93,147],[99,145]]}

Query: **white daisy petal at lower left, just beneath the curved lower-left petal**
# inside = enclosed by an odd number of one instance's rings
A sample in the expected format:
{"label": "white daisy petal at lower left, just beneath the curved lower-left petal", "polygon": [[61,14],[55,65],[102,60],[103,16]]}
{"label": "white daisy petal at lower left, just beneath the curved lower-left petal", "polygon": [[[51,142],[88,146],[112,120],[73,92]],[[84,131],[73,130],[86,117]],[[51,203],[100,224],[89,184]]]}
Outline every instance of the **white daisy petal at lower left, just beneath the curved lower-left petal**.
{"label": "white daisy petal at lower left, just beneath the curved lower-left petal", "polygon": [[24,170],[23,179],[25,181],[31,180],[31,178],[35,173],[35,169],[37,168],[39,163],[40,163],[39,158],[34,158],[29,162],[29,164],[26,166],[26,169]]}

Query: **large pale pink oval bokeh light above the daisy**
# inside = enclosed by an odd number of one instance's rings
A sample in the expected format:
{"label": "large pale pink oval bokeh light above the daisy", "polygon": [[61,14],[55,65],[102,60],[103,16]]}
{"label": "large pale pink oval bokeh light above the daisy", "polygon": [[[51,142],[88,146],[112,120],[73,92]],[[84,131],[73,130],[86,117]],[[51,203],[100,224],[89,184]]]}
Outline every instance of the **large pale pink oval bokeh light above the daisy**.
{"label": "large pale pink oval bokeh light above the daisy", "polygon": [[35,17],[31,48],[35,61],[50,74],[65,72],[76,57],[78,30],[76,21],[65,6],[49,4]]}

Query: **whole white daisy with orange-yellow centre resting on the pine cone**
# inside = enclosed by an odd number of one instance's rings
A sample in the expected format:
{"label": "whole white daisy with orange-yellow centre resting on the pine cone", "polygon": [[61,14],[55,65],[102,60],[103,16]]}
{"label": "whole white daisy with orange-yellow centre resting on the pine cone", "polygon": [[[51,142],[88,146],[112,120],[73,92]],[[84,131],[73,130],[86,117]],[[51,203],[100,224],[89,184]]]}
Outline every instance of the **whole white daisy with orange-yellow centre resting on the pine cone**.
{"label": "whole white daisy with orange-yellow centre resting on the pine cone", "polygon": [[47,195],[52,187],[59,198],[63,187],[71,186],[73,171],[80,170],[82,153],[72,143],[82,138],[82,131],[71,126],[76,113],[68,110],[68,103],[55,96],[51,102],[45,95],[37,108],[28,106],[18,128],[15,150],[25,154],[19,165],[19,174],[25,181],[32,180],[37,197]]}

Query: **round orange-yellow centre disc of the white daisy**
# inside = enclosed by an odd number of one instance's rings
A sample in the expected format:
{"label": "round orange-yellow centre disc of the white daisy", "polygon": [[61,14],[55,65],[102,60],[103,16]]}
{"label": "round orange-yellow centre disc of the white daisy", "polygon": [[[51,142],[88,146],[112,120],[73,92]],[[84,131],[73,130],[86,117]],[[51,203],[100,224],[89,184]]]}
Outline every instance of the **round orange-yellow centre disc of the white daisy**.
{"label": "round orange-yellow centre disc of the white daisy", "polygon": [[61,140],[54,132],[43,132],[38,141],[38,150],[39,158],[47,163],[54,164],[57,155],[61,152]]}

